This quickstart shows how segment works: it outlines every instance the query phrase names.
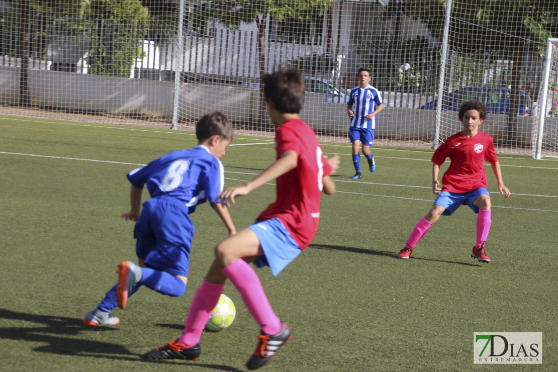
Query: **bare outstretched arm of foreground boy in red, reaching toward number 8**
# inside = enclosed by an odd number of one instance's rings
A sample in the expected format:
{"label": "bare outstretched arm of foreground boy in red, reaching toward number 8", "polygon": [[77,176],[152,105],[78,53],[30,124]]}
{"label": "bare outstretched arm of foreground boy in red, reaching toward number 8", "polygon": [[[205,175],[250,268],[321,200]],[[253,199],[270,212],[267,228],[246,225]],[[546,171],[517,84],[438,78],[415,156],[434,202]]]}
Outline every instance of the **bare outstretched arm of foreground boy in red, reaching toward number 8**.
{"label": "bare outstretched arm of foreground boy in red, reaching toward number 8", "polygon": [[222,203],[227,203],[228,201],[234,204],[234,198],[237,196],[247,195],[259,186],[264,185],[267,182],[275,180],[275,178],[287,173],[288,171],[296,168],[299,161],[299,156],[293,150],[287,150],[281,154],[281,156],[273,162],[266,170],[259,174],[252,181],[246,183],[243,186],[229,187],[225,189],[217,197],[221,199]]}

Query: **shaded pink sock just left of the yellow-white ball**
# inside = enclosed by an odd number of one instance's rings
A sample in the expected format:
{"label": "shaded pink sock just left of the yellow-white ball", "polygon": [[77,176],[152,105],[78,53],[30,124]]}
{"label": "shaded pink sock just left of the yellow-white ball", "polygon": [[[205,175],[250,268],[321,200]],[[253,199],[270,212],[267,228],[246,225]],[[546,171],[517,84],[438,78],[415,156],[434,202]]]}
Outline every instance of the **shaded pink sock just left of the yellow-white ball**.
{"label": "shaded pink sock just left of the yellow-white ball", "polygon": [[224,286],[224,283],[213,284],[206,282],[204,279],[188,310],[188,315],[184,321],[184,331],[182,331],[182,335],[177,341],[179,344],[192,347],[200,342],[201,332],[205,328],[205,323],[208,321],[211,311],[217,306]]}

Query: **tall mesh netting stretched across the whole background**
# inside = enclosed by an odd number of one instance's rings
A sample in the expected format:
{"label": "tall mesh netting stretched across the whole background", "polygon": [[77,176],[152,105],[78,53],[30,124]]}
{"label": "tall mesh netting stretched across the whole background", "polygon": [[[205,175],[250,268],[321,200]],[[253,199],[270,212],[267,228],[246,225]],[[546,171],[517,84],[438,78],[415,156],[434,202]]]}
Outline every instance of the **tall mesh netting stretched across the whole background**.
{"label": "tall mesh netting stretched across the whole background", "polygon": [[375,144],[436,146],[460,131],[460,104],[477,99],[499,151],[525,154],[546,38],[558,33],[555,0],[0,4],[3,114],[188,128],[219,110],[236,133],[271,137],[259,78],[296,68],[302,119],[348,142],[346,103],[364,67],[384,104]]}

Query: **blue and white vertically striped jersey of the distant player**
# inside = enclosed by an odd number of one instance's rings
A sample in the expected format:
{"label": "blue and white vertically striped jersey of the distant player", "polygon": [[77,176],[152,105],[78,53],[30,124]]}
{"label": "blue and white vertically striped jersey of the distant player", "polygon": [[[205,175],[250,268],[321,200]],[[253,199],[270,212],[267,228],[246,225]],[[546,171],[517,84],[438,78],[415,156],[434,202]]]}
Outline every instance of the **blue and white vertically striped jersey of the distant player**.
{"label": "blue and white vertically striped jersey of the distant player", "polygon": [[348,105],[353,105],[354,116],[350,119],[350,126],[354,128],[375,129],[376,115],[372,119],[367,120],[366,115],[374,112],[376,108],[382,104],[382,96],[378,89],[372,85],[366,88],[351,89],[349,94]]}

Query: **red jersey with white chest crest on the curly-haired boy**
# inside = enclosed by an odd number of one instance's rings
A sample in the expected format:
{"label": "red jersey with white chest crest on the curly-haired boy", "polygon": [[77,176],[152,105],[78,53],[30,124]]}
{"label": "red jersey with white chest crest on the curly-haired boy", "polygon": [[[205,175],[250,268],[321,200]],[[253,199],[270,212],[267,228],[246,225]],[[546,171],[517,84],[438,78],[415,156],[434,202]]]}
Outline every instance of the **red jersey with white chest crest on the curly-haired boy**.
{"label": "red jersey with white chest crest on the curly-haired boy", "polygon": [[480,131],[474,137],[465,137],[461,132],[454,134],[436,149],[432,162],[442,165],[446,157],[451,163],[442,177],[442,191],[449,192],[486,188],[488,181],[484,161],[498,161],[492,137]]}

